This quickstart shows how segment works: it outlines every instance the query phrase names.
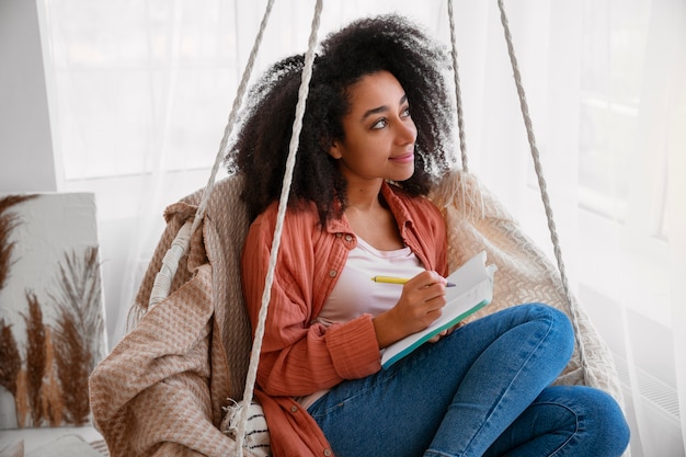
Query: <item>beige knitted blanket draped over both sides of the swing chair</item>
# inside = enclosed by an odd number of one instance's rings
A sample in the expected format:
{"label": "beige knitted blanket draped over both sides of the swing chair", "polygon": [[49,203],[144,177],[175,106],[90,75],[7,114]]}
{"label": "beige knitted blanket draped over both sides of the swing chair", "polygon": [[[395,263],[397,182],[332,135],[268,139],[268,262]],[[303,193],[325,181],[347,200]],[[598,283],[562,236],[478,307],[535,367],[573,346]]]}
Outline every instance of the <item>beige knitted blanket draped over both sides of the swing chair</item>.
{"label": "beige knitted blanket draped over both sides of the swing chair", "polygon": [[[251,346],[239,275],[248,230],[242,185],[240,176],[215,184],[171,295],[147,309],[162,258],[193,218],[199,192],[165,212],[167,229],[133,307],[136,327],[90,379],[94,423],[113,457],[235,455],[233,441],[219,425],[229,398],[242,397]],[[570,313],[557,270],[472,175],[454,172],[432,198],[445,213],[450,270],[481,250],[498,265],[493,302],[481,313],[527,301]],[[607,346],[583,308],[573,320],[585,349],[587,384],[621,401]],[[558,382],[583,384],[578,354]]]}

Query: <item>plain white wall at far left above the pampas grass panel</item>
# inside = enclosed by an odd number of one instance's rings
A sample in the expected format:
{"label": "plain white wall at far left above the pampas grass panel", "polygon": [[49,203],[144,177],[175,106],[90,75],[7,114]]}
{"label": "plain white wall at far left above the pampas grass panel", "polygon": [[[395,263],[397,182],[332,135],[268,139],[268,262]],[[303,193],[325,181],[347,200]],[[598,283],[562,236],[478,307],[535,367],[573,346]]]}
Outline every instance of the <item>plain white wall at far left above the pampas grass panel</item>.
{"label": "plain white wall at far left above the pampas grass panel", "polygon": [[35,0],[0,0],[0,192],[57,191]]}

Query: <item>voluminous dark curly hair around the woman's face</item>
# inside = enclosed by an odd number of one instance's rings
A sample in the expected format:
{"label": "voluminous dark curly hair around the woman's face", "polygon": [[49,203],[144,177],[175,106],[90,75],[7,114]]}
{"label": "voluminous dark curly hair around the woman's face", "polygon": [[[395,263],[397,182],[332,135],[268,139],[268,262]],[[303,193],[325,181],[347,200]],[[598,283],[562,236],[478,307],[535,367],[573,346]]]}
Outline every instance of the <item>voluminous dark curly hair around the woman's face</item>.
{"label": "voluminous dark curly hair around the woman's face", "polygon": [[[304,55],[285,58],[255,83],[227,156],[229,171],[245,175],[241,197],[251,220],[279,198],[304,62]],[[347,88],[381,70],[404,89],[418,129],[414,174],[396,184],[411,195],[427,194],[451,163],[455,110],[444,79],[448,69],[442,45],[398,15],[362,19],[329,35],[315,58],[289,205],[313,202],[322,224],[342,215],[346,182],[328,151],[344,136]]]}

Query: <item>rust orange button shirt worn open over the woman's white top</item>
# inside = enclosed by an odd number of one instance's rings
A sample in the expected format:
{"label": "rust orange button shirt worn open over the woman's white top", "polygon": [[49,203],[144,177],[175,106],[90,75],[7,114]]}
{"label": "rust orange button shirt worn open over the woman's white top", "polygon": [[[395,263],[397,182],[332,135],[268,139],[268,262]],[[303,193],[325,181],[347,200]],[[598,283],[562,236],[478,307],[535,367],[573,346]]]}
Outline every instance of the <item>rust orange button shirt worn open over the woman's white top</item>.
{"label": "rust orange button shirt worn open over the woman's white top", "polygon": [[[381,193],[405,245],[425,269],[447,275],[446,228],[439,210],[428,199],[410,197],[397,186],[385,183]],[[253,333],[276,213],[274,203],[254,220],[243,249],[243,293]],[[381,368],[371,316],[330,327],[311,323],[356,242],[345,217],[322,228],[313,204],[286,213],[255,391],[272,434],[272,449],[278,457],[331,455],[316,422],[293,397]]]}

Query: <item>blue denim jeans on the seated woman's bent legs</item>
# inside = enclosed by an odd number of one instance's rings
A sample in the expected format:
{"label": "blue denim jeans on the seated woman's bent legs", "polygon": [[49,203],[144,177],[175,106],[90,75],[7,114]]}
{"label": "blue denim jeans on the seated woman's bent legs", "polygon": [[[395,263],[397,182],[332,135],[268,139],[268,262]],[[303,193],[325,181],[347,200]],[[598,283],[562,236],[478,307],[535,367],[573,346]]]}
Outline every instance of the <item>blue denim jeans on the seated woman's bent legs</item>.
{"label": "blue denim jeans on the seated woman's bent legs", "polygon": [[550,386],[573,345],[562,312],[513,307],[341,382],[308,411],[336,457],[619,456],[629,429],[611,397]]}

